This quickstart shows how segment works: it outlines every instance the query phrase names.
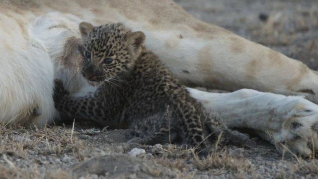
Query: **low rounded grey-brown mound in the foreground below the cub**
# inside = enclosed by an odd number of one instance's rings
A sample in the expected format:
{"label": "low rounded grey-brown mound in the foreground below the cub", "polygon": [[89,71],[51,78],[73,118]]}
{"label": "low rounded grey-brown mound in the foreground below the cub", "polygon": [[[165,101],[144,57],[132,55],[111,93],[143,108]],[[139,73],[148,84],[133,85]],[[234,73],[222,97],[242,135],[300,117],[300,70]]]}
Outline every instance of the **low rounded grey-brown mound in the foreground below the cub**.
{"label": "low rounded grey-brown mound in the foreground below the cub", "polygon": [[[154,173],[155,171],[163,170],[165,170],[164,176],[176,178],[175,172],[155,163],[153,160],[113,153],[81,162],[70,170],[70,174],[72,178],[76,179],[88,175],[97,175],[106,179],[127,179],[128,176],[133,177],[134,174],[137,174],[137,179],[153,179],[164,178],[162,172]],[[154,174],[156,174],[156,176],[154,176]]]}

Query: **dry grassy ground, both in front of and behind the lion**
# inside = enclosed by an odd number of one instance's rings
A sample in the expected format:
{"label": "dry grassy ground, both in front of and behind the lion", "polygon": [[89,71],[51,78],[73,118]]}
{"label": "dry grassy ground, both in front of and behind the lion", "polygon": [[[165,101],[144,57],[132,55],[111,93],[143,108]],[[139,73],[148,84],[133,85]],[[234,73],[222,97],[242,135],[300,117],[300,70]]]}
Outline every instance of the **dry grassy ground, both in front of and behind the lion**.
{"label": "dry grassy ground, both in front of and behind the lion", "polygon": [[[175,1],[203,21],[318,69],[317,0]],[[127,144],[129,137],[128,130],[84,122],[44,129],[3,124],[0,179],[318,178],[317,158],[284,158],[257,137],[241,146],[218,145],[204,160],[182,146]]]}

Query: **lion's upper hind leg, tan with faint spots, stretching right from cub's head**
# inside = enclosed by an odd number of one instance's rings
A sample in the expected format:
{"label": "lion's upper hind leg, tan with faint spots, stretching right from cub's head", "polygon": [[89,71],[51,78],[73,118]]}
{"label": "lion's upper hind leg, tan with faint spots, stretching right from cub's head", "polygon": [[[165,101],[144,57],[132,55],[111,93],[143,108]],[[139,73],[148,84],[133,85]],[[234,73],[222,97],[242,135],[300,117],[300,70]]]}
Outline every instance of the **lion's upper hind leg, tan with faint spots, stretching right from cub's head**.
{"label": "lion's upper hind leg, tan with faint spots, stretching right from cub's head", "polygon": [[184,33],[182,38],[168,30],[146,32],[146,45],[190,87],[318,94],[318,73],[300,61],[230,32],[218,31],[215,37],[202,32],[205,38],[187,30],[180,31]]}

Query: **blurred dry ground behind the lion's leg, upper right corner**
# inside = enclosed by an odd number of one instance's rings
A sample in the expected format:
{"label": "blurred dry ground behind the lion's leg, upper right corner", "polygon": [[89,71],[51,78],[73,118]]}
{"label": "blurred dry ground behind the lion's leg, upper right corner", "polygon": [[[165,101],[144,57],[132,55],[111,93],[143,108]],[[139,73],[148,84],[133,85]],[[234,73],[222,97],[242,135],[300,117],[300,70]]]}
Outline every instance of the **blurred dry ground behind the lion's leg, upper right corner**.
{"label": "blurred dry ground behind the lion's leg, upper right corner", "polygon": [[318,70],[318,0],[174,0],[194,17]]}

